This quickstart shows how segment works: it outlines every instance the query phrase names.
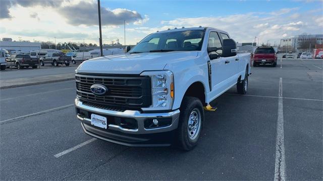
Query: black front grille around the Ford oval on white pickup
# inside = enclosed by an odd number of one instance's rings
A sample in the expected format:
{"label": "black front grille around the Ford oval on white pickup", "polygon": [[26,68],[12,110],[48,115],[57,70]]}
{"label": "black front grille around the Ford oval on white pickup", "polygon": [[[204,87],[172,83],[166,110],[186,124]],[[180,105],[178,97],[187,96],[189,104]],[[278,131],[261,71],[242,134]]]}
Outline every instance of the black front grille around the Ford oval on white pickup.
{"label": "black front grille around the Ford oval on white pickup", "polygon": [[[151,105],[150,77],[76,74],[75,79],[77,96],[83,101],[131,110]],[[93,94],[90,88],[93,84],[106,86],[107,93]]]}

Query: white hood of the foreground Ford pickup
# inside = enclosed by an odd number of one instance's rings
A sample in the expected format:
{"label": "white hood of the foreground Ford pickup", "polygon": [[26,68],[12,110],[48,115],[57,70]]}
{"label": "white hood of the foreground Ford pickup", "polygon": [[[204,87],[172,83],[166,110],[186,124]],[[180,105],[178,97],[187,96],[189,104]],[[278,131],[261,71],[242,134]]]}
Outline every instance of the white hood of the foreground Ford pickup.
{"label": "white hood of the foreground Ford pickup", "polygon": [[121,54],[86,60],[77,73],[140,74],[146,70],[163,70],[168,63],[192,59],[198,51]]}

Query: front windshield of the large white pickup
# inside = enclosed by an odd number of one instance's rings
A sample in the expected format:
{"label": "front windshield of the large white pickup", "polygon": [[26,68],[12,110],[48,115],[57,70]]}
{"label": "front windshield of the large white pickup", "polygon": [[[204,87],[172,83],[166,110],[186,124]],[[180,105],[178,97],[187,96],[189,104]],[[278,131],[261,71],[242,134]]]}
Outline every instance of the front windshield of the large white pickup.
{"label": "front windshield of the large white pickup", "polygon": [[201,50],[204,30],[153,33],[144,38],[129,53]]}

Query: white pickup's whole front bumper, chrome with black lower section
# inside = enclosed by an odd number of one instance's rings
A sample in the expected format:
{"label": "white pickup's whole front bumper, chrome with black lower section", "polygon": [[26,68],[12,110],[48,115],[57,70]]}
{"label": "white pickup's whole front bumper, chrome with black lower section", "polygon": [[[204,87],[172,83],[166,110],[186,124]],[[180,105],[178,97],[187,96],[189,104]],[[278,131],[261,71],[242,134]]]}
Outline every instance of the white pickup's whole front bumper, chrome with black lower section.
{"label": "white pickup's whole front bumper, chrome with black lower section", "polygon": [[[180,111],[168,113],[141,113],[139,111],[113,111],[94,108],[84,105],[75,99],[77,118],[82,122],[84,132],[93,137],[119,143],[128,146],[168,146],[172,143],[174,132],[178,127]],[[91,125],[90,115],[98,114],[107,117],[107,129]],[[137,122],[137,128],[128,129],[109,122],[109,119],[133,119]],[[165,127],[145,128],[144,121],[147,119],[171,119],[171,124]]]}

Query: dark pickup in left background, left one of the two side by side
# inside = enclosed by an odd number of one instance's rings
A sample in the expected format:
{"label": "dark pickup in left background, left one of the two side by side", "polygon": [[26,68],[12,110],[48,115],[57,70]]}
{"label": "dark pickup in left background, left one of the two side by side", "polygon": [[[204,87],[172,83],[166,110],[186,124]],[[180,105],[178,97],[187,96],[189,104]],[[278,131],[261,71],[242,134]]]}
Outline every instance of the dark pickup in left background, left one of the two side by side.
{"label": "dark pickup in left background, left one of the two side by side", "polygon": [[16,66],[17,69],[21,68],[37,68],[39,65],[37,59],[30,58],[30,55],[26,54],[12,54],[10,58],[7,59],[8,66]]}

